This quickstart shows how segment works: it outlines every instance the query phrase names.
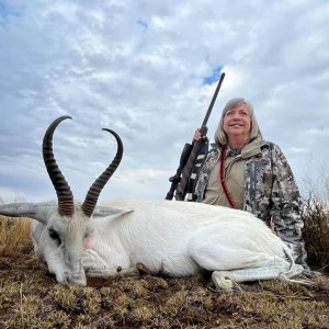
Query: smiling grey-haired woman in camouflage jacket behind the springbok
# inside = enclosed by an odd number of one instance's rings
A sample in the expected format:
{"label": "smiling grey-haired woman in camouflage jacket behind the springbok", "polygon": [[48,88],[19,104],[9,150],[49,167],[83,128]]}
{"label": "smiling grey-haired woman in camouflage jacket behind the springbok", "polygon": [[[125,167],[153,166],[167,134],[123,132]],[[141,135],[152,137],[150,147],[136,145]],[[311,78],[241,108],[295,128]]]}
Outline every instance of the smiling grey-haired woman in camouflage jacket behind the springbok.
{"label": "smiling grey-haired woman in camouflage jacket behind the springbok", "polygon": [[[202,138],[200,129],[194,139]],[[230,100],[223,110],[195,186],[196,201],[243,209],[272,227],[306,272],[302,197],[280,147],[262,140],[252,105]]]}

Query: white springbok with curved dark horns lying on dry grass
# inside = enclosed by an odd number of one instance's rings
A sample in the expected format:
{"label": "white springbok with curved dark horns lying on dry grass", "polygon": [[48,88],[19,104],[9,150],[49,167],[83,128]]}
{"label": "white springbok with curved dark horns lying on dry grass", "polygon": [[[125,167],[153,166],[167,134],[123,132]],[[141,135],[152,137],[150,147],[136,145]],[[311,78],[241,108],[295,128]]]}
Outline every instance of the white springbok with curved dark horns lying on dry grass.
{"label": "white springbok with curved dark horns lying on dry grass", "polygon": [[82,204],[73,202],[53,152],[53,134],[70,116],[55,120],[43,140],[43,157],[58,203],[15,203],[0,214],[36,219],[32,226],[35,253],[58,282],[86,285],[87,276],[112,276],[136,271],[141,263],[151,273],[189,276],[212,271],[218,290],[238,282],[300,274],[291,249],[253,215],[190,202],[113,201],[97,206],[101,190],[123,156],[116,155],[90,188]]}

